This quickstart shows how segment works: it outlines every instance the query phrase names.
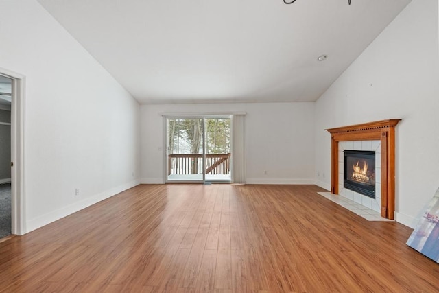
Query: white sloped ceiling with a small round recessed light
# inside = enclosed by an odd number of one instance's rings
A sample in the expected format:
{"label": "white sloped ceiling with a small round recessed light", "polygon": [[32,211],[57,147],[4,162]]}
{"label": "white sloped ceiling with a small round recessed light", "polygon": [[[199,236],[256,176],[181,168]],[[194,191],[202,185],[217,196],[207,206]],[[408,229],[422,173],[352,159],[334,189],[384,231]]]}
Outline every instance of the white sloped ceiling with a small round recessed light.
{"label": "white sloped ceiling with a small round recessed light", "polygon": [[141,104],[315,101],[410,2],[38,1]]}

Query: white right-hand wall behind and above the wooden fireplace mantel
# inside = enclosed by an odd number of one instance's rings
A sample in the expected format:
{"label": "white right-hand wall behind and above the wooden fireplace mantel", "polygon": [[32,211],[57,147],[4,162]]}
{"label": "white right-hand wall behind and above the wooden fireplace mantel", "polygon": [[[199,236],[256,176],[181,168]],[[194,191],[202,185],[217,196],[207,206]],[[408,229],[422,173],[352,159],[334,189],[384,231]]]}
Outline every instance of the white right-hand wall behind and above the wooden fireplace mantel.
{"label": "white right-hand wall behind and above the wooden fireplace mantel", "polygon": [[438,1],[413,0],[316,102],[316,172],[329,188],[325,128],[401,118],[396,220],[414,226],[439,187]]}

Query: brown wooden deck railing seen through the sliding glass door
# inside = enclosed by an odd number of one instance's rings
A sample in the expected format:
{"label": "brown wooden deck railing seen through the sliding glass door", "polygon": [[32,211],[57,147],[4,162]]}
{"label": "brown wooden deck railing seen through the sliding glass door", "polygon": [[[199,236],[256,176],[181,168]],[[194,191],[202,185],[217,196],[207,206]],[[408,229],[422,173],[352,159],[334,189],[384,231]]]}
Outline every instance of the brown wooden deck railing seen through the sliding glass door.
{"label": "brown wooden deck railing seen through the sliding glass door", "polygon": [[[169,154],[168,175],[202,174],[202,154]],[[206,174],[230,174],[230,154],[206,154]]]}

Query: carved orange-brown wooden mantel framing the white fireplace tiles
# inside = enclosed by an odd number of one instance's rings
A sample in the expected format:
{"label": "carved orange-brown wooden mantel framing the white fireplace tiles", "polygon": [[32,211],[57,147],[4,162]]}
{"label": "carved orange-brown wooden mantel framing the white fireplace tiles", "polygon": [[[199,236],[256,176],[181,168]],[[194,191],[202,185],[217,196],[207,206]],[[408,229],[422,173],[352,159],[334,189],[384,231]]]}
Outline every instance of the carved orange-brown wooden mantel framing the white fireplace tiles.
{"label": "carved orange-brown wooden mantel framing the white fireplace tiles", "polygon": [[338,143],[381,141],[381,217],[394,218],[395,209],[395,126],[401,119],[326,129],[331,133],[331,192],[338,194]]}

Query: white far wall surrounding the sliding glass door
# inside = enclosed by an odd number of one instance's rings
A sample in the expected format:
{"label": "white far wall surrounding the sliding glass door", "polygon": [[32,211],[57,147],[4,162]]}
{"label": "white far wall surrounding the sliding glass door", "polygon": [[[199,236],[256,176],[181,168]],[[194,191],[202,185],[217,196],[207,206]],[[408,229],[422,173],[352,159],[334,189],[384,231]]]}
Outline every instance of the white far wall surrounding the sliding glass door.
{"label": "white far wall surrounding the sliding glass door", "polygon": [[247,113],[246,183],[314,183],[314,103],[142,105],[142,182],[165,180],[160,113],[227,111]]}

